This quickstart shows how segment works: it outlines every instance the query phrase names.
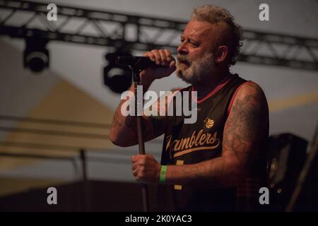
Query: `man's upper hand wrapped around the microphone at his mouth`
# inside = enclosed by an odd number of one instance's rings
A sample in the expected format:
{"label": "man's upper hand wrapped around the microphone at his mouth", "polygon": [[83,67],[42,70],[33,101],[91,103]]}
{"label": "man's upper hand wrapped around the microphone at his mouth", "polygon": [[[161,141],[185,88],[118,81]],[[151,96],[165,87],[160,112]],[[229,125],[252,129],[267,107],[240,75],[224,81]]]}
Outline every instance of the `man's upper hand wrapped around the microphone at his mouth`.
{"label": "man's upper hand wrapped around the microphone at his mouth", "polygon": [[155,64],[163,67],[153,68],[148,67],[140,73],[142,84],[151,84],[155,79],[164,78],[170,76],[175,71],[175,59],[171,56],[171,53],[167,49],[153,49],[151,52],[146,52],[143,57],[149,57]]}

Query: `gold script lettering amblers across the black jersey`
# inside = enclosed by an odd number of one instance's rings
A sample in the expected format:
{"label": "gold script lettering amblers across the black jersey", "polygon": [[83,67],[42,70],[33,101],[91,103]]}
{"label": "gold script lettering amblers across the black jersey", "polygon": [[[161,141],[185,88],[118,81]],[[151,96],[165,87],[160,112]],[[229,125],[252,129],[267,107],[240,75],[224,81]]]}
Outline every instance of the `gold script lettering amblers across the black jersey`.
{"label": "gold script lettering amblers across the black jersey", "polygon": [[[192,133],[191,137],[181,138],[179,140],[172,140],[172,136],[167,136],[165,150],[171,148],[174,151],[173,157],[191,153],[196,150],[211,150],[218,148],[220,145],[220,139],[217,137],[218,132],[203,133],[203,129],[196,134],[196,131]],[[208,145],[208,146],[206,146]]]}

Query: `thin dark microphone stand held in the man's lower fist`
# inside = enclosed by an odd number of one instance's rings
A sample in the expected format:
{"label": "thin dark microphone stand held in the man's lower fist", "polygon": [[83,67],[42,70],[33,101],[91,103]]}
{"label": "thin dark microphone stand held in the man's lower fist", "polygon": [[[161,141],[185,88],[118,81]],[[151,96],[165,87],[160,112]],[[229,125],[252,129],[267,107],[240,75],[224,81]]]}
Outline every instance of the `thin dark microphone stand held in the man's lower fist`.
{"label": "thin dark microphone stand held in the man's lower fist", "polygon": [[[143,119],[143,109],[141,109],[141,115],[138,114],[138,107],[142,106],[143,98],[141,103],[139,102],[137,85],[141,85],[139,73],[141,69],[138,69],[136,65],[131,66],[131,70],[134,73],[134,93],[135,93],[135,113],[136,123],[137,123],[137,135],[139,144],[139,155],[145,155],[145,143],[143,142],[143,130],[142,130],[142,119]],[[143,95],[143,94],[142,94]],[[148,186],[146,184],[141,184],[141,193],[143,198],[143,212],[149,212],[149,198],[148,198]]]}

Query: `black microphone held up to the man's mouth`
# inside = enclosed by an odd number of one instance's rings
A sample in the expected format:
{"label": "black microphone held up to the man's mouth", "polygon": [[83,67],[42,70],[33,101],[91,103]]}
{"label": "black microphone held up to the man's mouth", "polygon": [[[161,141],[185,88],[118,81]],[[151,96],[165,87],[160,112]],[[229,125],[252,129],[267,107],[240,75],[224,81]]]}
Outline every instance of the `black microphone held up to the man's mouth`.
{"label": "black microphone held up to the man's mouth", "polygon": [[148,67],[169,67],[155,64],[148,57],[132,57],[132,56],[119,56],[116,57],[116,64],[121,66],[131,66],[134,69],[143,70]]}

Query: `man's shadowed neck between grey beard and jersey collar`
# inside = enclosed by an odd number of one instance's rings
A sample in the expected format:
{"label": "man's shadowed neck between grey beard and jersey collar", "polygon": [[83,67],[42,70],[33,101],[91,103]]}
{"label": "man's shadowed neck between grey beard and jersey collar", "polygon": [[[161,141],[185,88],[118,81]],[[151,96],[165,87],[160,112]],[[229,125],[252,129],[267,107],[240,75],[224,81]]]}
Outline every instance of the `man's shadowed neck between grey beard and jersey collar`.
{"label": "man's shadowed neck between grey beard and jersey collar", "polygon": [[208,93],[211,93],[230,74],[230,72],[228,69],[225,69],[222,71],[214,71],[211,74],[212,76],[207,78],[206,81],[193,85],[199,98],[205,97]]}

